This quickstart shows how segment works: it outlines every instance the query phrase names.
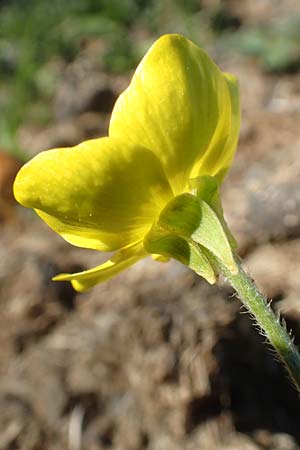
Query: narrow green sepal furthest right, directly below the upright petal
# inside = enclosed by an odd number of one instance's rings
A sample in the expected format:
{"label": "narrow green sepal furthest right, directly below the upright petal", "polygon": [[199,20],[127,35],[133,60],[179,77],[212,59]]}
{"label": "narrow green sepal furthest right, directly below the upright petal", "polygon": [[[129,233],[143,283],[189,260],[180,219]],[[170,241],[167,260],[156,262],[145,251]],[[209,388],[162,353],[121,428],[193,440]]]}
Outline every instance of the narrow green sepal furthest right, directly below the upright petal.
{"label": "narrow green sepal furthest right, directly below the upright petal", "polygon": [[233,250],[237,249],[237,242],[228,225],[224,219],[223,208],[220,197],[220,183],[216,177],[210,175],[203,175],[197,178],[189,179],[189,187],[191,191],[194,191],[195,195],[204,200],[217,214],[222,226],[225,231],[230,246]]}

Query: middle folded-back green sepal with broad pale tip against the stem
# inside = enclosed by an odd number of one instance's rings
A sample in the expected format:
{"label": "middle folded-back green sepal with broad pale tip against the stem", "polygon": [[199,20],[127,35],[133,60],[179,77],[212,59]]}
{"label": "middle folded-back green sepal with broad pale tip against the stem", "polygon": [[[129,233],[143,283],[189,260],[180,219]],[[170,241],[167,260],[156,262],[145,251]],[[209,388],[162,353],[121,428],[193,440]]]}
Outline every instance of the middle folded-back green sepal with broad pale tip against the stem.
{"label": "middle folded-back green sepal with broad pale tip against the stem", "polygon": [[156,226],[165,233],[199,244],[208,250],[207,255],[212,253],[231,273],[237,273],[222,221],[204,200],[192,194],[174,197],[161,212]]}

